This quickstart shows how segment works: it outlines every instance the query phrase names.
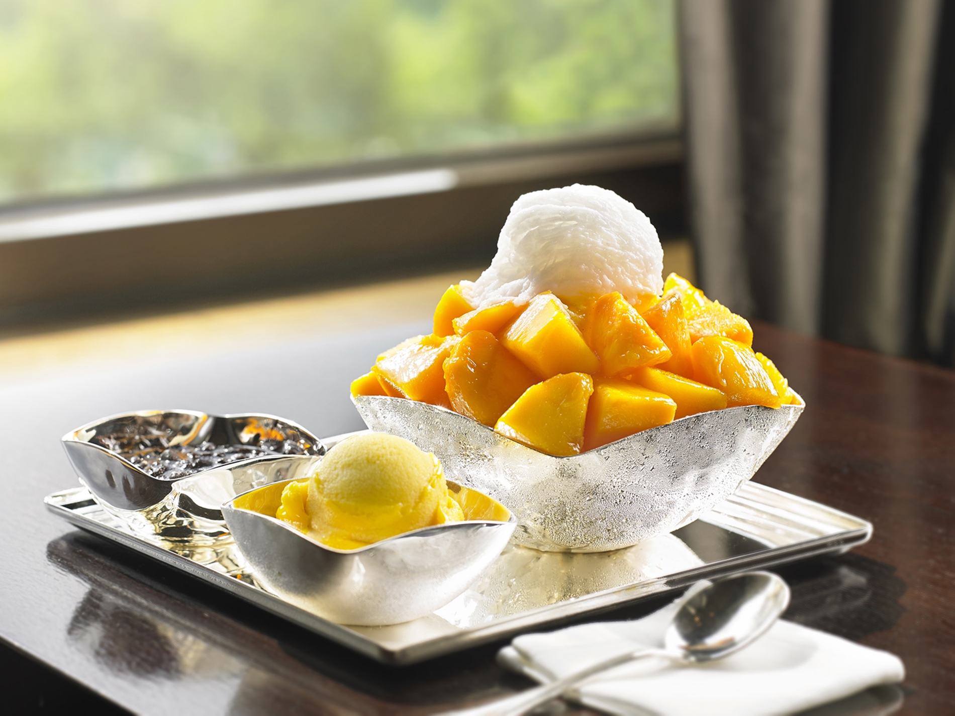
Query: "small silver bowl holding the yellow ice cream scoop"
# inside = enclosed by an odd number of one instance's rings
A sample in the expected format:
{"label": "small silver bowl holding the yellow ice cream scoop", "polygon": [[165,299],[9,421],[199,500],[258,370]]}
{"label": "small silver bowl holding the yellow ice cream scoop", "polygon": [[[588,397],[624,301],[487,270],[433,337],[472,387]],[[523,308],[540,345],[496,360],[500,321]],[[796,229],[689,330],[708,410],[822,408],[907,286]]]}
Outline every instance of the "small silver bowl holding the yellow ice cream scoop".
{"label": "small silver bowl holding the yellow ice cream scoop", "polygon": [[467,521],[339,550],[273,516],[289,481],[224,503],[225,521],[265,589],[337,623],[395,624],[440,609],[498,558],[517,524],[495,500],[448,480],[455,493],[472,493],[475,504],[464,507]]}

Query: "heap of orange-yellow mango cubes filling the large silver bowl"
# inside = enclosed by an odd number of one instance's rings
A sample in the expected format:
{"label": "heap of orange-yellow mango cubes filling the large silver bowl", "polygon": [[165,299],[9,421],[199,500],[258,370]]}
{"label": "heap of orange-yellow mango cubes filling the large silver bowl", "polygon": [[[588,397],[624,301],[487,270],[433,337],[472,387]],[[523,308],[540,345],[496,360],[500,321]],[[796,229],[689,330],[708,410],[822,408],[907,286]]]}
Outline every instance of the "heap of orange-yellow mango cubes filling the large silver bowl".
{"label": "heap of orange-yellow mango cubes filling the large silver bowl", "polygon": [[379,355],[351,393],[441,406],[572,455],[698,412],[800,402],[752,346],[746,319],[676,274],[638,306],[545,292],[476,310],[453,285],[434,333]]}

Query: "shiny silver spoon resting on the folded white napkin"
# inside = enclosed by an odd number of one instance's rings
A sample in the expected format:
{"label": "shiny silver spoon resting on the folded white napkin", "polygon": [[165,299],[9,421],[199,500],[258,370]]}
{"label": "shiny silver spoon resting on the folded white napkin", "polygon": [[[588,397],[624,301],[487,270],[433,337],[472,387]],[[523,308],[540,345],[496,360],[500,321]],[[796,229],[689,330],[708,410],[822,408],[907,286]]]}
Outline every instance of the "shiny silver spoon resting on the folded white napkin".
{"label": "shiny silver spoon resting on the folded white napkin", "polygon": [[550,684],[445,716],[520,716],[606,669],[657,657],[671,663],[711,662],[762,636],[789,604],[786,582],[769,572],[698,581],[679,600],[662,649],[638,649],[594,663]]}

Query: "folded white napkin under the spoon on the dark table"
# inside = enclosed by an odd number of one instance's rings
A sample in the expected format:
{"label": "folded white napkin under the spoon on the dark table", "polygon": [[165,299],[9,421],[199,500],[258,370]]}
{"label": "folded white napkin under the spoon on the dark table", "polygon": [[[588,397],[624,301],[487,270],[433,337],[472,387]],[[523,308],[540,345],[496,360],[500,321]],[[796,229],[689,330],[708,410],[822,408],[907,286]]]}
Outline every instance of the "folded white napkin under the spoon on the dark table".
{"label": "folded white napkin under the spoon on the dark table", "polygon": [[[527,634],[501,649],[498,661],[544,684],[615,654],[662,647],[675,610],[670,604],[637,621]],[[624,664],[569,698],[627,716],[765,716],[827,704],[904,676],[894,654],[777,621],[759,641],[726,659],[691,666],[662,660]]]}

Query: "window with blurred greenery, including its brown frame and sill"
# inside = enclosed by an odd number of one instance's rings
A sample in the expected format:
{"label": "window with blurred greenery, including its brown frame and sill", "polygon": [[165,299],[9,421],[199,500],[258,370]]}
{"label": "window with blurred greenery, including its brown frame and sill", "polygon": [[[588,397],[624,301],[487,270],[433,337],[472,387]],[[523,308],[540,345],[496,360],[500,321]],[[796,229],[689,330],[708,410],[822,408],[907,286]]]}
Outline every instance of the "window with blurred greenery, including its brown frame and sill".
{"label": "window with blurred greenery, including its brown frame and sill", "polygon": [[573,181],[681,236],[675,35],[674,0],[0,0],[0,330],[479,265]]}

